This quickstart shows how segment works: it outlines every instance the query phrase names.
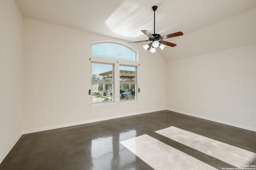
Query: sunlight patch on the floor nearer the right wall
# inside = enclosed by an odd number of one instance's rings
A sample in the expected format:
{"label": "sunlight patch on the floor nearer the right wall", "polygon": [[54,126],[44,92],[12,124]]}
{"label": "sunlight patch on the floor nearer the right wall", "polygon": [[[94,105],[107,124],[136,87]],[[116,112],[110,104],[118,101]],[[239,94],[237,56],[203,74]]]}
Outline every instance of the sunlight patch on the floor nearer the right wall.
{"label": "sunlight patch on the floor nearer the right wall", "polygon": [[256,158],[256,153],[254,152],[234,147],[177,127],[168,127],[156,131],[156,133],[238,168],[241,168],[243,165],[252,165]]}

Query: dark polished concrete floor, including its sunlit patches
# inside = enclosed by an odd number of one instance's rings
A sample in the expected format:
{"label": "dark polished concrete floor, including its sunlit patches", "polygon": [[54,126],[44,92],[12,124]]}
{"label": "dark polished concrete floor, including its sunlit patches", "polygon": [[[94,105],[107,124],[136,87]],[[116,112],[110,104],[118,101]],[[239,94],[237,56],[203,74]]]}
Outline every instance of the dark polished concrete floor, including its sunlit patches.
{"label": "dark polished concrete floor, including its sunlit patches", "polygon": [[221,170],[255,153],[256,132],[164,110],[22,135],[0,170]]}

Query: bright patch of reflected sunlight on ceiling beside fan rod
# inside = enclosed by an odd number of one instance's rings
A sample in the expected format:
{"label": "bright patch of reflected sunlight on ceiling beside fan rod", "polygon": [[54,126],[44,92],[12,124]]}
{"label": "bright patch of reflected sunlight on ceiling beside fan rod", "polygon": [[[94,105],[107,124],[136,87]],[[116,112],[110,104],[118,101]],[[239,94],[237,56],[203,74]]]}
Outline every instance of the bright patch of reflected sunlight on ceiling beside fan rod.
{"label": "bright patch of reflected sunlight on ceiling beside fan rod", "polygon": [[[140,3],[132,0],[124,1],[105,21],[108,29],[124,37],[139,37],[143,35],[140,30],[153,30],[154,12],[151,7],[145,7]],[[163,17],[164,15],[156,13],[157,20]]]}

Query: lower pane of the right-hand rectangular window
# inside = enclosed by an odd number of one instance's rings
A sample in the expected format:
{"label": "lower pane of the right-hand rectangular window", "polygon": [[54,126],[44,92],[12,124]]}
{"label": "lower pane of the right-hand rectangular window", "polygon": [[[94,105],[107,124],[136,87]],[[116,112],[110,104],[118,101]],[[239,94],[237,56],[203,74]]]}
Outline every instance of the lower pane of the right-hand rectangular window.
{"label": "lower pane of the right-hand rectangular window", "polygon": [[120,84],[120,100],[136,99],[136,84]]}

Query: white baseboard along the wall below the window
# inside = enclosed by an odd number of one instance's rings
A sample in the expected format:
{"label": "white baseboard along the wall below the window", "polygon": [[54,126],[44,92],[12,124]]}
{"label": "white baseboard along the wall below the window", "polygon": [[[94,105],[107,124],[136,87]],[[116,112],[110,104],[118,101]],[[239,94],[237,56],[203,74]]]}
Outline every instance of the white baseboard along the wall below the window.
{"label": "white baseboard along the wall below the window", "polygon": [[97,121],[116,119],[116,118],[120,118],[120,117],[139,115],[139,114],[150,113],[150,112],[161,111],[161,110],[166,110],[166,108],[139,111],[139,112],[128,113],[128,114],[124,114],[124,115],[115,115],[115,116],[102,117],[102,118],[98,118],[98,119],[90,119],[90,120],[85,120],[85,121],[77,121],[77,122],[65,123],[65,124],[54,125],[54,126],[40,127],[40,128],[36,128],[36,129],[28,129],[28,130],[22,131],[22,134],[28,134],[28,133],[34,133],[34,132],[40,132],[40,131],[47,131],[47,130],[58,129],[58,128],[62,128],[62,127],[70,127],[70,126],[75,126],[75,125],[82,125],[82,124],[86,124],[86,123],[94,123],[94,122],[97,122]]}

